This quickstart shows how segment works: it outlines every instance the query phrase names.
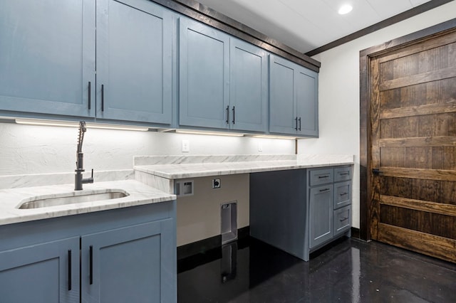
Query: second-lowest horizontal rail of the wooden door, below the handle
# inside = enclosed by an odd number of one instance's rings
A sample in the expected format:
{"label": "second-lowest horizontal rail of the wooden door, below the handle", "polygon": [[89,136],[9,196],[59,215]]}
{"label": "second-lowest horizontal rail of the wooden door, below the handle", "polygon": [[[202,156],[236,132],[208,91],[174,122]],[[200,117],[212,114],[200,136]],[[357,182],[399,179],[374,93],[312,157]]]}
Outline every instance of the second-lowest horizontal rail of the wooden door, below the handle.
{"label": "second-lowest horizontal rail of the wooden door, below the handle", "polygon": [[380,204],[456,217],[456,205],[380,195]]}

